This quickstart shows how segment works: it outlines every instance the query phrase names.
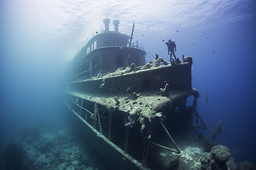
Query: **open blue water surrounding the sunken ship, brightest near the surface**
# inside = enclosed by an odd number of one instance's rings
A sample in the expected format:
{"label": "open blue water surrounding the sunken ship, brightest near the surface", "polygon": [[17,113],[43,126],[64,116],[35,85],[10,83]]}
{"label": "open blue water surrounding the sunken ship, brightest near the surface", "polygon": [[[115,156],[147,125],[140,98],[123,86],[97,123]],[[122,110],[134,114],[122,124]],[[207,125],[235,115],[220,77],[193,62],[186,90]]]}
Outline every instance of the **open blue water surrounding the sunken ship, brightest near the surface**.
{"label": "open blue water surrounding the sunken ship, brightest near the surface", "polygon": [[14,0],[0,8],[1,151],[20,127],[61,117],[64,66],[110,18],[127,35],[135,23],[134,41],[149,57],[168,60],[168,39],[176,41],[177,57],[192,56],[200,116],[209,127],[208,91],[211,128],[218,120],[224,126],[216,142],[237,162],[256,164],[255,1]]}

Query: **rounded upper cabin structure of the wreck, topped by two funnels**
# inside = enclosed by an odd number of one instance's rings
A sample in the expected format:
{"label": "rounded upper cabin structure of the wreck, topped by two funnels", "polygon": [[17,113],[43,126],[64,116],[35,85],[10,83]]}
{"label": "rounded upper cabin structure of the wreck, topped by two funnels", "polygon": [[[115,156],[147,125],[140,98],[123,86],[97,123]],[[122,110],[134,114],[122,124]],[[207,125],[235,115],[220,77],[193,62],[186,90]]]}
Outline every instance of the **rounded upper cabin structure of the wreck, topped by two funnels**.
{"label": "rounded upper cabin structure of the wreck, topped by two funnels", "polygon": [[109,31],[110,19],[104,19],[105,31],[93,36],[70,63],[72,80],[97,76],[99,73],[113,73],[125,69],[131,63],[145,65],[144,47],[131,45],[130,36],[118,31],[119,20],[113,20],[114,31]]}

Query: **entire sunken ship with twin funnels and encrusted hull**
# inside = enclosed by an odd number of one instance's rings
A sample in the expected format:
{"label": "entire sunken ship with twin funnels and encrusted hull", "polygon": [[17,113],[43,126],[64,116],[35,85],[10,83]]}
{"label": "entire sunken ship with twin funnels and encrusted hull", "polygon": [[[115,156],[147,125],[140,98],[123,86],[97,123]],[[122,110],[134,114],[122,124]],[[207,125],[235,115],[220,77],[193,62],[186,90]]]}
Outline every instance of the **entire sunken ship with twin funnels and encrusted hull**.
{"label": "entire sunken ship with twin funnels and encrusted hull", "polygon": [[134,25],[130,37],[118,31],[119,20],[114,31],[109,23],[69,63],[64,103],[110,169],[168,169],[181,154],[175,136],[207,129],[197,113],[192,57],[146,63],[144,47],[132,42]]}

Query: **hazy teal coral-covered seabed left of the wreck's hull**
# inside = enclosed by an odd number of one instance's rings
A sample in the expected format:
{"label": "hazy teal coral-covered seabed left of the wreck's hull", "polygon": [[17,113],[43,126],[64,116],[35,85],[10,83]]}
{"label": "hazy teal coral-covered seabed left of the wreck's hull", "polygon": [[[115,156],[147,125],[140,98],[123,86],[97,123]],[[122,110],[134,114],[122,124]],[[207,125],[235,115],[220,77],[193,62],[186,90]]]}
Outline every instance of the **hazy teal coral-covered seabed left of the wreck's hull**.
{"label": "hazy teal coral-covered seabed left of the wreck's hull", "polygon": [[[54,125],[54,126],[53,126]],[[92,167],[90,156],[82,150],[71,137],[68,129],[52,122],[52,126],[40,131],[40,139],[23,146],[26,156],[23,169],[97,169]],[[1,167],[0,167],[1,169]]]}

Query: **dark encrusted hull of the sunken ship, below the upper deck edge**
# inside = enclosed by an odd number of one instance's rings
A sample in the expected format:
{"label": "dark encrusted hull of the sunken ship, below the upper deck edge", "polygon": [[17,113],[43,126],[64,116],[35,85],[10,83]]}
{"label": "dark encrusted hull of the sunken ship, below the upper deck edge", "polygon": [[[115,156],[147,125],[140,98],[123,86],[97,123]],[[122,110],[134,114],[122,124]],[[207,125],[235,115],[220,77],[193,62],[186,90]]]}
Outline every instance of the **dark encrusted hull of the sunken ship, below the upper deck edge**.
{"label": "dark encrusted hull of the sunken ship, below the upper deck edge", "polygon": [[[160,134],[168,137],[168,130],[192,124],[199,94],[191,86],[191,66],[192,58],[175,65],[67,83],[65,103],[85,124],[86,135],[110,168],[151,169],[160,164],[150,161],[155,156],[153,147],[180,153],[174,141],[161,141]],[[166,84],[170,85],[163,91]],[[187,107],[189,96],[195,99]],[[169,144],[163,146],[166,142]]]}

